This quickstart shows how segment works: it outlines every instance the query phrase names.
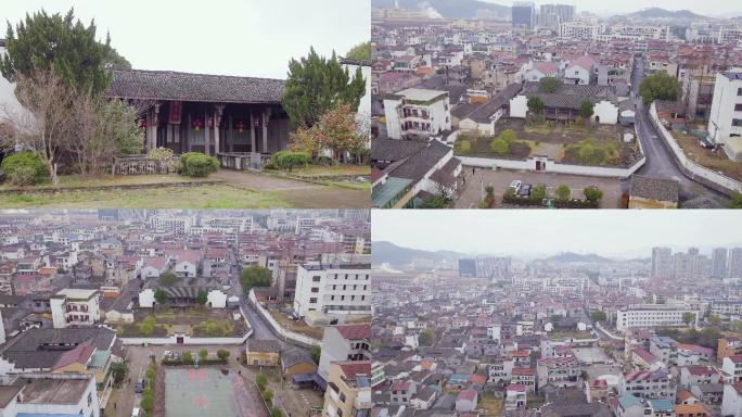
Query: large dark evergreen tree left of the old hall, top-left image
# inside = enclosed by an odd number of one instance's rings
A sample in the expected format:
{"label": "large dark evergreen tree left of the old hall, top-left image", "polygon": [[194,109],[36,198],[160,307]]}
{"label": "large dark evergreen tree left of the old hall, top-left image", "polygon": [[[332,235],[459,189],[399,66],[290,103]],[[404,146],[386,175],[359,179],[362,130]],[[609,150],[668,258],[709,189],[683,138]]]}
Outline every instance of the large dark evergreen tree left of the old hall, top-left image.
{"label": "large dark evergreen tree left of the old hall, top-left image", "polygon": [[8,24],[7,56],[0,56],[5,78],[17,73],[34,77],[52,70],[64,84],[78,91],[98,94],[111,80],[108,70],[130,67],[128,61],[105,42],[95,39],[95,23],[75,21],[74,10],[64,16],[41,10],[15,26]]}

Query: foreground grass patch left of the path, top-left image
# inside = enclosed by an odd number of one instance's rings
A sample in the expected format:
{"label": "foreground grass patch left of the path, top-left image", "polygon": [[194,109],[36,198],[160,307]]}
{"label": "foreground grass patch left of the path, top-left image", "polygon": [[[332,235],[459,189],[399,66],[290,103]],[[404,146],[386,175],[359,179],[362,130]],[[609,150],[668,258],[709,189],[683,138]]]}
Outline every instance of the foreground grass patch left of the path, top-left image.
{"label": "foreground grass patch left of the path, top-left image", "polygon": [[253,192],[227,185],[149,189],[3,193],[0,207],[22,208],[272,208],[292,204],[276,191]]}

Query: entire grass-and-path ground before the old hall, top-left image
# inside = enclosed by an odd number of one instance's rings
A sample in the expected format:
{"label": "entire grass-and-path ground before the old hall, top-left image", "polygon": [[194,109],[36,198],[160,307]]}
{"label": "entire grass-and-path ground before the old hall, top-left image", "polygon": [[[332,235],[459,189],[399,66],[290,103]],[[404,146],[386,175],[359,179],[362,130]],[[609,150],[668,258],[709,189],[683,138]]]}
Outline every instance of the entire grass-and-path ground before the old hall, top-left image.
{"label": "entire grass-and-path ground before the old hall, top-left image", "polygon": [[[311,173],[311,172],[310,172]],[[302,173],[299,173],[302,174]],[[327,173],[325,173],[327,174]],[[308,174],[307,174],[308,175]],[[0,207],[43,208],[364,208],[369,187],[341,172],[303,180],[221,169],[207,179],[179,175],[63,176],[59,189],[0,185]]]}

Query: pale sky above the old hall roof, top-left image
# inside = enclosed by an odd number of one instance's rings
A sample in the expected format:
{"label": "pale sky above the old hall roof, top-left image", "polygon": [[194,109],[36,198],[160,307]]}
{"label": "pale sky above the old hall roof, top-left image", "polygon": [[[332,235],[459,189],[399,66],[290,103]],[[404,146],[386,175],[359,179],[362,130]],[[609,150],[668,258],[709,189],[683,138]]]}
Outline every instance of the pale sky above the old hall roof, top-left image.
{"label": "pale sky above the old hall roof, top-left image", "polygon": [[142,70],[285,78],[310,46],[345,54],[371,34],[369,0],[2,0],[0,38],[7,21],[71,7]]}

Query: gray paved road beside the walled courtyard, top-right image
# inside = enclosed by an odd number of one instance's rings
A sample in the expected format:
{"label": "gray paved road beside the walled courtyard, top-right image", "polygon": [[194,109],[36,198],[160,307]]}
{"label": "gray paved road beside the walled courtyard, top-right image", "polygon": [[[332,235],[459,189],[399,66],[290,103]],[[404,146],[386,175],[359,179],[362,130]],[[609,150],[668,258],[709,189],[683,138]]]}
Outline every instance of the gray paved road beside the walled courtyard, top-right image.
{"label": "gray paved road beside the walled courtyard, top-right image", "polygon": [[634,103],[637,110],[636,123],[639,130],[639,140],[647,155],[647,163],[639,168],[637,174],[644,175],[652,178],[674,179],[680,185],[681,200],[690,200],[700,195],[706,197],[713,203],[719,206],[727,206],[729,200],[720,192],[703,186],[700,182],[688,178],[678,168],[670,151],[662,142],[654,126],[649,121],[649,110],[641,102],[639,96],[639,85],[644,78],[644,68],[642,60],[636,60],[631,91],[635,94]]}

